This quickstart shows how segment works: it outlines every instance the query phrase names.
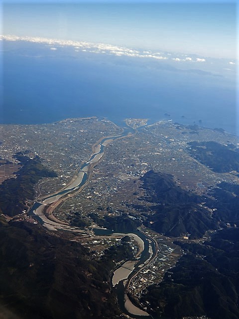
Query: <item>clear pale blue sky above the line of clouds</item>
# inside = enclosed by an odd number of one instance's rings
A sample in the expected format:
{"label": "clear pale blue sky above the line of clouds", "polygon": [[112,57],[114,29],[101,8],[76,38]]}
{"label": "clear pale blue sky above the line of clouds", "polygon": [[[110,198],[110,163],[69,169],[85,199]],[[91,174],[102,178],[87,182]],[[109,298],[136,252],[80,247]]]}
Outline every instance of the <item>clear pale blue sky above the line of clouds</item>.
{"label": "clear pale blue sky above the line of clouds", "polygon": [[3,1],[2,32],[236,58],[234,1],[71,2]]}

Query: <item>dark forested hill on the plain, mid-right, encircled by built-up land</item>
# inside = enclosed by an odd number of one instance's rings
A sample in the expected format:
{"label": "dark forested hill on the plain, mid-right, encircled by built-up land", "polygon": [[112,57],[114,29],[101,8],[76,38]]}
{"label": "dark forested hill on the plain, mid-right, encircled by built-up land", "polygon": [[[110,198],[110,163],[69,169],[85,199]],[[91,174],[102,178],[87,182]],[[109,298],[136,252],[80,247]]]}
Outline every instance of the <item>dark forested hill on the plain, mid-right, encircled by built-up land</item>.
{"label": "dark forested hill on the plain, mid-right, encircled by built-up land", "polygon": [[177,186],[172,175],[150,170],[141,180],[145,190],[141,200],[153,204],[149,213],[143,213],[147,227],[166,236],[190,234],[191,238],[203,237],[208,229],[217,228],[209,210],[199,205],[205,197]]}

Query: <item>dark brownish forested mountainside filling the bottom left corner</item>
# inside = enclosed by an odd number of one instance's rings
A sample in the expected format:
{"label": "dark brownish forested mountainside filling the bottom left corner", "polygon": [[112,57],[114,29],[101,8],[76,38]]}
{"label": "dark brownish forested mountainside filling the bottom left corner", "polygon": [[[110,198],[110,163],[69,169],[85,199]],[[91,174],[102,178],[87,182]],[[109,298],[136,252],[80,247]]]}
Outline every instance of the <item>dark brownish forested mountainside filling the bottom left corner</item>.
{"label": "dark brownish forested mountainside filling the bottom left corner", "polygon": [[0,222],[0,314],[119,318],[109,282],[116,263],[132,257],[125,245],[112,246],[101,260],[93,260],[80,243],[50,235],[39,225]]}

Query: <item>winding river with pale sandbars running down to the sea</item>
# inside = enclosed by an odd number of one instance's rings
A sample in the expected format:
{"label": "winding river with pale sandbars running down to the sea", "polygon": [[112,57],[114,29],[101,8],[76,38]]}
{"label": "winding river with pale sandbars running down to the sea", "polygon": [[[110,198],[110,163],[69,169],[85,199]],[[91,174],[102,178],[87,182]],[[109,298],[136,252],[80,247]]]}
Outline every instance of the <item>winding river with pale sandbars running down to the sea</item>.
{"label": "winding river with pale sandbars running down to the sea", "polygon": [[[68,198],[68,196],[71,196],[73,193],[80,191],[88,181],[90,172],[92,171],[94,165],[103,157],[105,147],[112,141],[129,136],[134,132],[135,130],[128,127],[124,128],[123,133],[119,135],[103,138],[97,145],[94,146],[94,153],[91,155],[89,160],[85,161],[81,165],[77,175],[74,176],[72,181],[60,191],[35,201],[33,206],[28,211],[28,215],[34,217],[41,225],[49,230],[65,229],[74,232],[85,233],[84,230],[61,222],[54,218],[54,216],[47,217],[45,207],[47,206],[47,209],[51,208],[51,211],[53,211],[60,201]],[[151,261],[153,256],[156,254],[157,247],[153,240],[150,240],[148,236],[140,231],[136,231],[129,235],[138,242],[138,245],[141,247],[141,253],[134,260],[125,261],[117,270],[115,270],[112,278],[112,284],[113,288],[117,292],[119,307],[123,313],[135,319],[149,318],[149,315],[145,311],[135,307],[131,303],[125,291],[131,278],[133,278],[140,269],[142,269]]]}

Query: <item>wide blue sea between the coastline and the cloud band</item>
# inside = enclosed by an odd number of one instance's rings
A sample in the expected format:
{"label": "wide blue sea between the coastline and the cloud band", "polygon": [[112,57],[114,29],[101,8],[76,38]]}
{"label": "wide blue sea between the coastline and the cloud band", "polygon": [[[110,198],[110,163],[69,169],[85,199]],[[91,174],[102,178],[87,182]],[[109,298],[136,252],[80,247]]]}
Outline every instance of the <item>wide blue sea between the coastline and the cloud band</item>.
{"label": "wide blue sea between the coastline and the cloud band", "polygon": [[[237,134],[236,80],[146,59],[10,43],[2,58],[5,124],[99,116],[172,120]],[[145,62],[146,61],[146,62]]]}

